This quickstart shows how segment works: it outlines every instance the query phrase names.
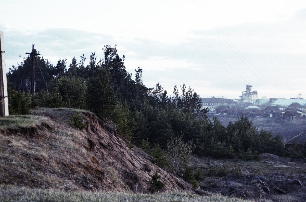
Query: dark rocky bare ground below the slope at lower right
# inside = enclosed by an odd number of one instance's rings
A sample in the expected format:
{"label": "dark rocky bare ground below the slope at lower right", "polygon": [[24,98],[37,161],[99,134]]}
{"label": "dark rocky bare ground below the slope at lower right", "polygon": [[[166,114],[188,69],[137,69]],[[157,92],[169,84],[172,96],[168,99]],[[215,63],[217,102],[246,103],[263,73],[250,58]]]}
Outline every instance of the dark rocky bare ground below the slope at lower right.
{"label": "dark rocky bare ground below the slope at lower right", "polygon": [[256,201],[306,201],[306,159],[297,161],[267,153],[262,157],[262,161],[212,159],[217,169],[223,164],[241,168],[242,175],[226,177],[209,176],[208,158],[195,158],[194,167],[200,168],[207,175],[200,182],[200,188],[207,192]]}

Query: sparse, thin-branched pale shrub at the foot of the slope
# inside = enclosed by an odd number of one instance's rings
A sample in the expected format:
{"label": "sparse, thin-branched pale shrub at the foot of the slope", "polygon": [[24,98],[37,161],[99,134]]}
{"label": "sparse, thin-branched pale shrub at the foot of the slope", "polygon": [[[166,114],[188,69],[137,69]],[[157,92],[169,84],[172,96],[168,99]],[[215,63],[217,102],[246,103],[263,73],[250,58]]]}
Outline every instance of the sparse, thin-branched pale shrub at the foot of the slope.
{"label": "sparse, thin-branched pale shrub at the foot of the slope", "polygon": [[183,135],[172,136],[167,142],[166,153],[170,158],[171,167],[178,176],[184,176],[190,164],[193,149],[194,146],[190,142],[185,143]]}

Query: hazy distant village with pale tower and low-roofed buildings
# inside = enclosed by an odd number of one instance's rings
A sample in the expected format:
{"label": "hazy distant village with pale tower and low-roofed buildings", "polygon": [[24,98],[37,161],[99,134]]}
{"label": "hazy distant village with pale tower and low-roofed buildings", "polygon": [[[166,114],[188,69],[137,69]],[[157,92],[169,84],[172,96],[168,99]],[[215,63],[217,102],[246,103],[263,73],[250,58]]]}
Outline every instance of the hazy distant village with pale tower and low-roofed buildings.
{"label": "hazy distant village with pale tower and low-roofed buildings", "polygon": [[230,117],[279,117],[294,120],[306,118],[306,99],[258,99],[257,91],[252,85],[246,85],[239,99],[202,98],[202,108],[209,109],[208,115]]}

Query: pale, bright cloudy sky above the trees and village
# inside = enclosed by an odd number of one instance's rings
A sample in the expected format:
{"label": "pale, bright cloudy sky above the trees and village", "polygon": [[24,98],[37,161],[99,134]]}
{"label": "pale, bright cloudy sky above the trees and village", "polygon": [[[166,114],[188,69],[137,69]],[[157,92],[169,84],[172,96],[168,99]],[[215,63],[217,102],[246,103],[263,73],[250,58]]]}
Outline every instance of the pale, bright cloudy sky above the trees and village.
{"label": "pale, bright cloudy sky above the trees and village", "polygon": [[56,65],[117,45],[125,67],[168,94],[190,86],[200,97],[306,99],[306,1],[2,0],[6,69],[34,48]]}

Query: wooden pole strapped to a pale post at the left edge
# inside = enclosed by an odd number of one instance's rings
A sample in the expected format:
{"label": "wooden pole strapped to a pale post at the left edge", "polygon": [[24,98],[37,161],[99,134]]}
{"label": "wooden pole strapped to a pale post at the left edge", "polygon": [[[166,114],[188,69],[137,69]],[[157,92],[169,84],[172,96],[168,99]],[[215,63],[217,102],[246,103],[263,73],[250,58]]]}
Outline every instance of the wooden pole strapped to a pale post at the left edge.
{"label": "wooden pole strapped to a pale post at the left edge", "polygon": [[9,115],[9,103],[7,98],[6,67],[4,55],[4,37],[0,31],[0,116]]}

